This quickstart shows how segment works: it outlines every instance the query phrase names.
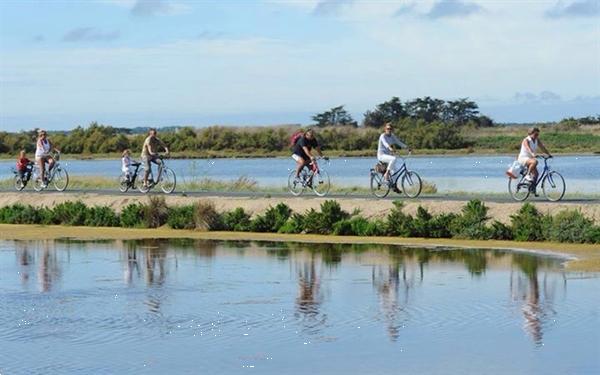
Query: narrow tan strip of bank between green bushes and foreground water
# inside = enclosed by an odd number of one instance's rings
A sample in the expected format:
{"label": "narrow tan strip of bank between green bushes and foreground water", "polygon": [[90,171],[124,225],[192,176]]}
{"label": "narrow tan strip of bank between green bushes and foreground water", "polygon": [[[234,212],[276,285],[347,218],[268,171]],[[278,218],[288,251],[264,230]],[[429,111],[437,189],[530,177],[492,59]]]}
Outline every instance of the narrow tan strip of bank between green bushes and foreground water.
{"label": "narrow tan strip of bank between green bushes and foreground water", "polygon": [[40,240],[63,239],[78,240],[134,240],[145,238],[191,238],[204,240],[233,241],[270,241],[300,243],[334,243],[334,244],[386,244],[422,247],[461,247],[489,248],[512,251],[530,251],[541,254],[569,256],[567,269],[572,271],[600,272],[600,249],[589,244],[561,244],[553,242],[515,242],[515,241],[478,241],[457,239],[426,239],[399,237],[356,237],[327,236],[314,234],[282,234],[282,233],[240,233],[240,232],[201,232],[194,230],[175,230],[168,227],[156,229],[141,228],[90,228],[43,225],[10,225],[0,224],[0,239],[3,240]]}

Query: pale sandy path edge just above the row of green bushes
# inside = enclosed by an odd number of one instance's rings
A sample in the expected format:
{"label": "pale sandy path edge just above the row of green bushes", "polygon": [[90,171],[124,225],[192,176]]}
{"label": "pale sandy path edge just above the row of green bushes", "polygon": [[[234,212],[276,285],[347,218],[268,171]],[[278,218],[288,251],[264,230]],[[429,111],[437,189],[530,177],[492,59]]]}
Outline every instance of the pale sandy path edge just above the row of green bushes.
{"label": "pale sandy path edge just above the row of green bushes", "polygon": [[[184,205],[193,204],[199,200],[214,202],[217,210],[226,211],[236,207],[242,207],[247,212],[252,214],[261,213],[266,210],[269,206],[274,206],[277,203],[283,202],[290,206],[292,210],[296,212],[304,212],[311,208],[319,209],[321,203],[326,198],[294,198],[294,197],[220,197],[220,196],[207,196],[207,197],[183,197],[183,196],[165,196],[167,204],[169,205]],[[32,206],[47,206],[52,207],[58,203],[66,201],[81,200],[87,205],[106,205],[119,211],[122,207],[134,203],[148,201],[148,197],[141,195],[106,195],[106,194],[95,194],[95,193],[57,193],[57,194],[35,194],[35,193],[12,193],[6,192],[0,194],[0,207],[12,205],[15,203],[30,204]],[[375,218],[384,217],[387,215],[389,210],[393,207],[393,203],[390,200],[377,200],[370,198],[336,198],[336,201],[340,203],[342,208],[348,212],[354,210],[360,210],[361,214],[365,217]],[[441,212],[459,212],[460,209],[465,205],[465,202],[461,201],[441,201],[441,200],[406,200],[405,201],[405,212],[414,214],[417,207],[421,205],[432,213]],[[502,222],[509,222],[510,215],[517,212],[521,207],[521,203],[495,203],[486,202],[486,205],[490,208],[489,214],[492,218],[500,220]],[[600,204],[581,204],[581,203],[548,203],[548,202],[536,202],[536,207],[544,213],[556,213],[565,209],[579,209],[587,217],[593,218],[597,223],[600,223]]]}

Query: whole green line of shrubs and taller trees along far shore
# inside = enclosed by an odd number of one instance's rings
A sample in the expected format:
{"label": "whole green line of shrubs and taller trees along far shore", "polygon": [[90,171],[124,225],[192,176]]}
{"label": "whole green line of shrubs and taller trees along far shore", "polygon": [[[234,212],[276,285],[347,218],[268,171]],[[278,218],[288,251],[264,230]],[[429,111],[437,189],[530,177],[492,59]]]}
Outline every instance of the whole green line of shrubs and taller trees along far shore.
{"label": "whole green line of shrubs and taller trees along far shore", "polygon": [[[398,137],[419,149],[478,147],[477,141],[465,134],[473,133],[473,129],[495,126],[491,119],[479,113],[475,102],[466,98],[444,101],[424,97],[402,102],[393,97],[366,111],[362,126],[358,126],[344,106],[316,114],[313,120],[323,149],[345,152],[375,150],[381,127],[386,122],[394,124]],[[568,118],[558,123],[556,129],[570,131],[580,125],[598,122],[600,116]],[[290,136],[298,129],[299,126],[169,127],[159,129],[159,137],[171,150],[191,155],[281,154],[289,152]],[[67,154],[114,154],[124,149],[131,149],[135,154],[141,150],[146,137],[142,133],[143,128],[137,131],[134,133],[131,129],[93,122],[68,132],[50,132],[49,136]],[[31,154],[35,151],[36,138],[35,130],[19,133],[0,131],[0,154],[17,154],[20,150]],[[513,139],[509,141],[515,143]],[[518,142],[515,145],[518,146]],[[489,148],[489,145],[482,147]]]}

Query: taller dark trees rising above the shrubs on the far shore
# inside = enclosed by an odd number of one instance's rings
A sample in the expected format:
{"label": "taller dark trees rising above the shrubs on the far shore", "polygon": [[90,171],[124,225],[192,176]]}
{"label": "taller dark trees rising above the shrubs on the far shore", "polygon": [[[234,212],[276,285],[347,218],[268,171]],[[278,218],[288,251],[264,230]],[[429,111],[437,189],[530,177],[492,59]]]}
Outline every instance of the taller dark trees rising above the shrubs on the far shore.
{"label": "taller dark trees rising above the shrubs on the far shore", "polygon": [[[473,123],[478,127],[493,126],[494,122],[487,116],[479,114],[479,106],[468,98],[458,100],[442,100],[429,96],[402,102],[398,97],[378,104],[375,109],[364,114],[362,125],[379,128],[386,122],[398,122],[403,119],[422,120],[426,123],[442,122],[456,126]],[[331,108],[312,117],[319,127],[325,126],[358,126],[344,106]]]}

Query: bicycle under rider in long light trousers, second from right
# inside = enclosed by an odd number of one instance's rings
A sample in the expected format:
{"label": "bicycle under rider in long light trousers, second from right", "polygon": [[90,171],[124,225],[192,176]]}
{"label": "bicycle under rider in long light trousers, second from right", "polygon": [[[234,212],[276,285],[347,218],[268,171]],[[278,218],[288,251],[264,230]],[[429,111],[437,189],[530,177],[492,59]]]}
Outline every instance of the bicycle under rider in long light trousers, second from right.
{"label": "bicycle under rider in long light trousers, second from right", "polygon": [[[410,156],[411,153],[408,153]],[[423,183],[421,177],[415,171],[411,171],[406,166],[406,160],[402,159],[402,166],[396,170],[386,181],[384,179],[387,163],[377,162],[375,168],[371,168],[371,193],[377,198],[385,198],[390,193],[391,188],[395,188],[398,194],[404,193],[409,198],[416,198],[421,194]],[[398,180],[402,191],[398,189]]]}

